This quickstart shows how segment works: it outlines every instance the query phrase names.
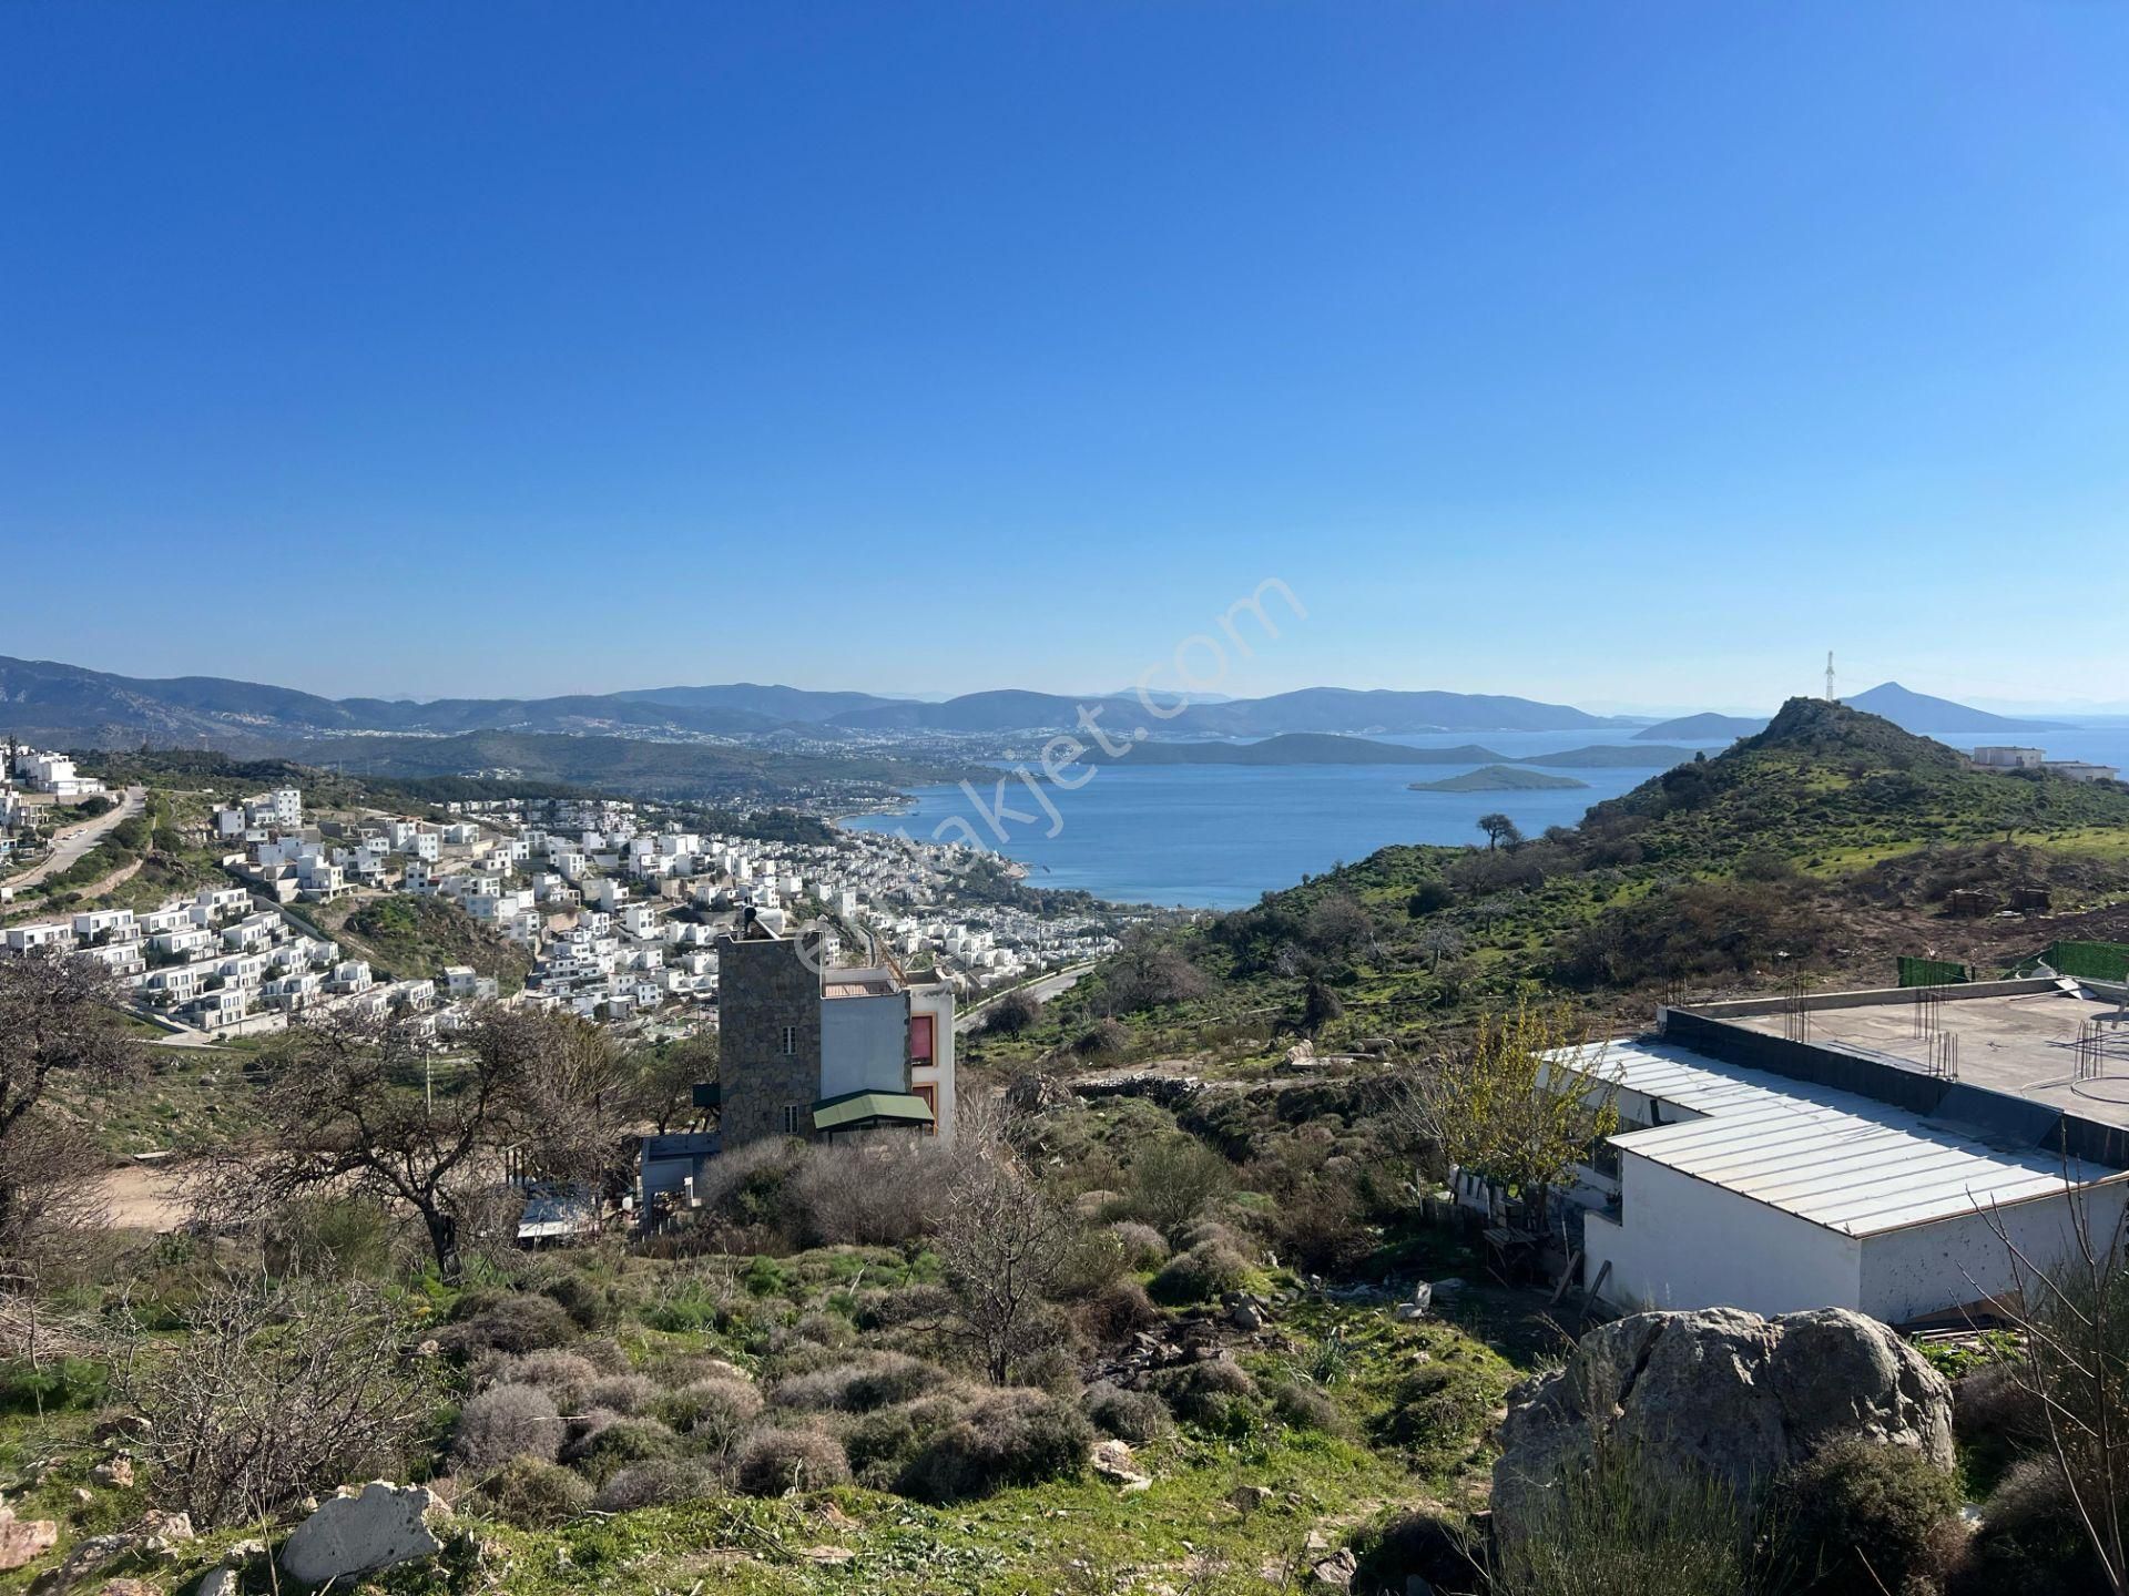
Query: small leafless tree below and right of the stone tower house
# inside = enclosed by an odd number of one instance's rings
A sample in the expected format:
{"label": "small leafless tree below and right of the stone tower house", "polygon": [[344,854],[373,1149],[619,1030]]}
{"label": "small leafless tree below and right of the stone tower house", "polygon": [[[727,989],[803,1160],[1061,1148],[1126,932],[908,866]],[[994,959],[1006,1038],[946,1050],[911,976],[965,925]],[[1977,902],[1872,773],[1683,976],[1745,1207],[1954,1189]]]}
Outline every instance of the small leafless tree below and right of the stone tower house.
{"label": "small leafless tree below and right of the stone tower house", "polygon": [[939,1215],[939,1258],[960,1307],[945,1326],[967,1341],[994,1385],[1033,1349],[1064,1270],[1073,1219],[1028,1177],[1013,1151],[960,1130]]}

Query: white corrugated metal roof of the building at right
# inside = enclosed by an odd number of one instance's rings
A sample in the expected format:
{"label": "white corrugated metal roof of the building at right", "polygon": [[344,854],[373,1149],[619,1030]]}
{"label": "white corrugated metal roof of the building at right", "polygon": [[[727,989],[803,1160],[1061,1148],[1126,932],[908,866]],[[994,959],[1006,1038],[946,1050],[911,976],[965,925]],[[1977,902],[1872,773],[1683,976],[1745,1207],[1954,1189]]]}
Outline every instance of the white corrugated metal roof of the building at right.
{"label": "white corrugated metal roof of the building at right", "polygon": [[[1556,1058],[1571,1062],[1573,1053]],[[1597,1075],[1695,1117],[1612,1138],[1639,1158],[1850,1236],[2063,1190],[2063,1160],[1993,1147],[1905,1109],[1665,1043],[1612,1043]],[[2072,1164],[2072,1179],[2112,1168]]]}

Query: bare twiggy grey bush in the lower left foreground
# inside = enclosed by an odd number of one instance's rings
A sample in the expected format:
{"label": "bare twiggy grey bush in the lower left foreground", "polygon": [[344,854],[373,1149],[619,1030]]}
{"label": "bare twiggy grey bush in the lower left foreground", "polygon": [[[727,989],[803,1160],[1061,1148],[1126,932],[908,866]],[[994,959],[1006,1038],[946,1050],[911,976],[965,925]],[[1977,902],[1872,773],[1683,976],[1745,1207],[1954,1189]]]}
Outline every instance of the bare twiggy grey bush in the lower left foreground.
{"label": "bare twiggy grey bush in the lower left foreground", "polygon": [[366,1285],[238,1281],[143,1341],[134,1400],[155,1490],[200,1528],[253,1524],[347,1479],[398,1473],[436,1392]]}

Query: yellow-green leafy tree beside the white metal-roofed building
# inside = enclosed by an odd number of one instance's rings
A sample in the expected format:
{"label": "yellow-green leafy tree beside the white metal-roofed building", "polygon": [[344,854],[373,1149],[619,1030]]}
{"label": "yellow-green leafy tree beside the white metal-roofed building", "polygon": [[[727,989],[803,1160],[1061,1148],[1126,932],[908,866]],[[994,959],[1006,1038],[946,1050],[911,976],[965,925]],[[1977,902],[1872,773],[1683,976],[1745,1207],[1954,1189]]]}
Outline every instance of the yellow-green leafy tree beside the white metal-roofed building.
{"label": "yellow-green leafy tree beside the white metal-roofed building", "polygon": [[[1573,1062],[1548,1053],[1573,1049]],[[1414,1151],[1516,1192],[1541,1226],[1552,1190],[1618,1130],[1618,1087],[1588,1036],[1561,1015],[1518,1007],[1482,1021],[1471,1047],[1412,1079],[1392,1111]]]}

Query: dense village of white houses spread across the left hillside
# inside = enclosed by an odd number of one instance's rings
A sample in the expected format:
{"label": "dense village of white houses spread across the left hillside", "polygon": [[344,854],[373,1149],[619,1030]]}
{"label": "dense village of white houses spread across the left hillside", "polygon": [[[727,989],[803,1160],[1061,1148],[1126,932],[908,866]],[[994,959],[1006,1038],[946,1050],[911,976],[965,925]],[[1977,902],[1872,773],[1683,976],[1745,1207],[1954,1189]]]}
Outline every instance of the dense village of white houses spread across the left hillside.
{"label": "dense village of white houses spread across the left hillside", "polygon": [[[53,792],[53,781],[70,796],[102,792],[60,755],[17,753],[0,804],[17,813],[26,789]],[[260,792],[213,813],[230,885],[151,911],[85,907],[11,926],[0,943],[87,953],[158,1024],[221,1034],[279,1030],[319,1007],[390,1009],[447,1032],[485,1000],[692,1030],[715,1024],[715,949],[741,921],[777,932],[818,917],[830,964],[930,966],[962,994],[1116,947],[1101,919],[947,904],[969,864],[969,849],[952,845],[722,836],[607,798],[449,802],[441,815],[307,821],[302,789]],[[315,907],[349,896],[456,904],[530,958],[524,990],[505,994],[464,964],[385,979],[311,924]]]}

